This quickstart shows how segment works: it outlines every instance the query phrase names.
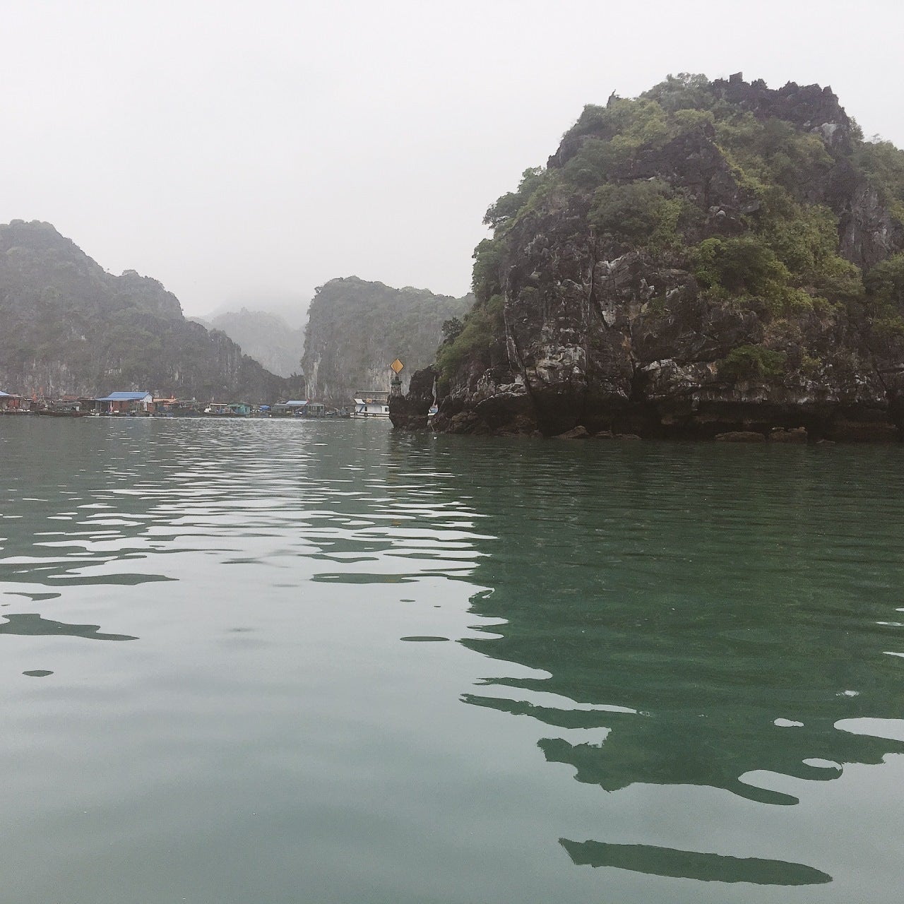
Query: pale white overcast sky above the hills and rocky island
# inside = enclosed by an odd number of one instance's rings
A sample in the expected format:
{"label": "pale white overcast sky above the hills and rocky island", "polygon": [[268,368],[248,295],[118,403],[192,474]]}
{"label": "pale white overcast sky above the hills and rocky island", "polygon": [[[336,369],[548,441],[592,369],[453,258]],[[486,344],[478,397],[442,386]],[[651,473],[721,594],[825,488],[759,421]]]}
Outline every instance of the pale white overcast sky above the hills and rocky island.
{"label": "pale white overcast sky above the hills and rocky island", "polygon": [[352,274],[461,295],[584,104],[743,71],[904,146],[902,38],[901,0],[0,0],[0,221],[190,315]]}

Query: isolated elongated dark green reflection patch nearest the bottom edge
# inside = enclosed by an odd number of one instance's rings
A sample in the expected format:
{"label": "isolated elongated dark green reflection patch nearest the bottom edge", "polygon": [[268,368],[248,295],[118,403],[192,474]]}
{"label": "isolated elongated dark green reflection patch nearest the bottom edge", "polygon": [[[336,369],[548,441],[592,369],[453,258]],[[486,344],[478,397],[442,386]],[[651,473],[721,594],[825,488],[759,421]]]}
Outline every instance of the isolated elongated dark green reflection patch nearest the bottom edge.
{"label": "isolated elongated dark green reflection patch nearest the bottom edge", "polygon": [[832,881],[831,876],[812,866],[782,860],[676,851],[650,844],[572,842],[567,838],[561,838],[560,844],[576,866],[611,866],[654,876],[753,885],[823,885]]}

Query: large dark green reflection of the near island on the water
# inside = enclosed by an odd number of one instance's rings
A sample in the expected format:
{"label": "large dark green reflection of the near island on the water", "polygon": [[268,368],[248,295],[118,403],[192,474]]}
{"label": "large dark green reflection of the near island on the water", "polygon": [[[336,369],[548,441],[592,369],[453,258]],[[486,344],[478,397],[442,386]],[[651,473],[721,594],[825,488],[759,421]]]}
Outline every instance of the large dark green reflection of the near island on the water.
{"label": "large dark green reflection of the near island on the water", "polygon": [[491,592],[473,606],[505,624],[462,643],[549,677],[465,699],[608,730],[541,740],[549,761],[607,790],[695,784],[794,803],[741,777],[833,778],[834,764],[904,750],[834,728],[900,717],[898,449],[471,451],[458,491],[498,538],[474,573]]}

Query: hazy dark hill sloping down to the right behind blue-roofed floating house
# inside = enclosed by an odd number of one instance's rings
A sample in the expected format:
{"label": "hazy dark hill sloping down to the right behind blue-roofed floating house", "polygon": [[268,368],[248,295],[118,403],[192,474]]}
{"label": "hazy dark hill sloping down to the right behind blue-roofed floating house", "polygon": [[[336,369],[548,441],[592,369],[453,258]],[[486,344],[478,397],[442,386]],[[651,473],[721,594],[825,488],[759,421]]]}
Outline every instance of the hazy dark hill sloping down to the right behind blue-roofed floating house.
{"label": "hazy dark hill sloping down to the right behind blue-roofed floating house", "polygon": [[260,402],[297,391],[225,334],[186,321],[155,279],[113,276],[49,223],[24,221],[0,226],[0,385]]}

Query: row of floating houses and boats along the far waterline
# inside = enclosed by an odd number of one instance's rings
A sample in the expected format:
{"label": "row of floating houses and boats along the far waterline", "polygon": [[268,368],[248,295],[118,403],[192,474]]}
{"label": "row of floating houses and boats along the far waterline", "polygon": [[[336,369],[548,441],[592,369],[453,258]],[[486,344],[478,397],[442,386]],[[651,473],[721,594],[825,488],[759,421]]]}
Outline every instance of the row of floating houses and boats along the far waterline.
{"label": "row of floating houses and boats along the far waterline", "polygon": [[388,418],[389,393],[360,392],[353,406],[335,408],[312,400],[289,400],[277,405],[256,405],[245,401],[198,401],[157,399],[146,391],[111,392],[103,398],[61,396],[31,399],[0,391],[0,414],[37,414],[56,418],[83,418],[86,415],[141,418]]}

